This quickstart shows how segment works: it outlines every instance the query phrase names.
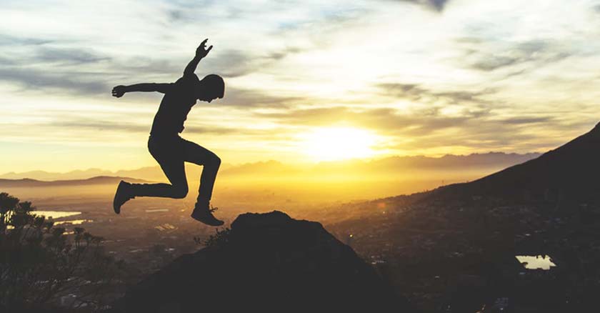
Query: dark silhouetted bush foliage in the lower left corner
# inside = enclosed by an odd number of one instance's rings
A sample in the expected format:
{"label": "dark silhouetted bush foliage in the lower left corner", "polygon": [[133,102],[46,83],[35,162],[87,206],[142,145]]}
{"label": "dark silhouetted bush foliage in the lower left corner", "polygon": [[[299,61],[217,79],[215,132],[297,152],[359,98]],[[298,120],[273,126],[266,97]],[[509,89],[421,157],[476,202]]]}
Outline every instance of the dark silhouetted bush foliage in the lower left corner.
{"label": "dark silhouetted bush foliage in the lower left corner", "polygon": [[69,294],[71,308],[98,304],[121,262],[106,256],[101,237],[75,227],[70,240],[34,212],[31,202],[0,193],[0,311],[53,306]]}

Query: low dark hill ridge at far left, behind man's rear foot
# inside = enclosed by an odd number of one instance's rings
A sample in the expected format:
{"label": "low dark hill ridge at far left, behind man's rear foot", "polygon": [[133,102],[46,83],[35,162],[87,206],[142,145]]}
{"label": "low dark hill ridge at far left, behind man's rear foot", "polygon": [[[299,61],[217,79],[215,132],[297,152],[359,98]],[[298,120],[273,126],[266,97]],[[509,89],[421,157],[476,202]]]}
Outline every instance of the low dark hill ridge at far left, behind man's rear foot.
{"label": "low dark hill ridge at far left, behind man's rear foot", "polygon": [[147,182],[142,179],[133,179],[129,177],[109,177],[99,176],[92,177],[89,179],[69,179],[69,180],[55,180],[51,182],[39,181],[36,179],[0,179],[0,187],[4,188],[15,188],[15,187],[58,187],[58,186],[86,186],[86,185],[99,185],[99,184],[116,184],[121,179],[127,182],[144,183]]}

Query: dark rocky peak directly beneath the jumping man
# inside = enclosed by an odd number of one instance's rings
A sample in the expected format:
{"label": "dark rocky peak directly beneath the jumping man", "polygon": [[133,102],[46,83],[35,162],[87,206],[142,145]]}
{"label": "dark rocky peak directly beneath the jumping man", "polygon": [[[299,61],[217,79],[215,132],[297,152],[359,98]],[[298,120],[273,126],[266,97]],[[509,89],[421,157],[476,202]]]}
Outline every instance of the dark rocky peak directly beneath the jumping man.
{"label": "dark rocky peak directly beneath the jumping man", "polygon": [[114,312],[412,312],[316,222],[241,214],[207,247],[131,287]]}

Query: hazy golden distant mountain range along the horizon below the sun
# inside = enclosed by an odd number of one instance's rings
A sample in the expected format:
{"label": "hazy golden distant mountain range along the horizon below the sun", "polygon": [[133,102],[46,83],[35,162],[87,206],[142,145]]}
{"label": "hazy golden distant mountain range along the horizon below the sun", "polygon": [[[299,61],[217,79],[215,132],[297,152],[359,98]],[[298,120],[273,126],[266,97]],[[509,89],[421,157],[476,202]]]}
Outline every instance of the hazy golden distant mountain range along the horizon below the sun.
{"label": "hazy golden distant mountain range along the horizon below the sun", "polygon": [[[291,165],[277,161],[254,162],[241,165],[224,164],[219,177],[237,177],[251,175],[254,177],[273,177],[281,175],[356,173],[356,174],[406,174],[423,171],[461,172],[464,170],[493,172],[514,164],[526,162],[539,156],[539,153],[505,154],[489,152],[485,154],[429,156],[390,156],[384,159],[366,161],[353,159],[339,162],[321,162],[314,165]],[[201,167],[188,167],[188,177],[198,177]],[[149,181],[162,181],[159,167],[142,167],[140,169],[120,170],[116,172],[104,169],[76,170],[66,173],[58,172],[9,172],[1,174],[0,179],[36,179],[39,181],[82,180],[92,177],[136,177]]]}

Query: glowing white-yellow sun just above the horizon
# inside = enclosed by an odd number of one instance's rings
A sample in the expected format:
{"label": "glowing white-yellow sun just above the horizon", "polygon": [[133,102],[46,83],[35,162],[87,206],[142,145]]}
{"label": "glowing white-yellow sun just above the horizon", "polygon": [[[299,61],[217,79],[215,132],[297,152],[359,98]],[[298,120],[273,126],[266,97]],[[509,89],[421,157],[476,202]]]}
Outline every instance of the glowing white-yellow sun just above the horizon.
{"label": "glowing white-yellow sun just above the horizon", "polygon": [[315,161],[338,161],[369,157],[376,136],[353,127],[327,127],[304,134],[302,148]]}

